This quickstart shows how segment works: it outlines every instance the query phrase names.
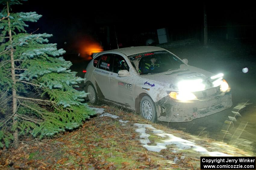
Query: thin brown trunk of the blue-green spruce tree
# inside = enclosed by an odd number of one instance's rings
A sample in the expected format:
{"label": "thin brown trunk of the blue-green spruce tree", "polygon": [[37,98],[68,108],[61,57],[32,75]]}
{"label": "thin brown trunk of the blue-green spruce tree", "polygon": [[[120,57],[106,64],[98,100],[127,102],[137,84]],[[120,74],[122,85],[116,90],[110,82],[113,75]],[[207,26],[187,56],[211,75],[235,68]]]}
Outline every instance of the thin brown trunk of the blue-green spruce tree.
{"label": "thin brown trunk of the blue-green spruce tree", "polygon": [[[9,4],[7,2],[7,12],[9,14]],[[12,35],[11,35],[11,21],[10,18],[8,18],[8,26],[9,26],[9,39],[10,39],[10,43],[11,43],[11,78],[13,81],[13,87],[12,87],[12,112],[13,112],[13,126],[15,126],[17,124],[17,120],[15,118],[17,118],[17,92],[15,89],[15,84],[16,84],[16,79],[15,79],[15,64],[14,64],[14,49],[12,47]],[[19,140],[18,140],[18,130],[17,128],[14,130],[13,133],[13,137],[14,137],[14,148],[18,147],[19,144]]]}

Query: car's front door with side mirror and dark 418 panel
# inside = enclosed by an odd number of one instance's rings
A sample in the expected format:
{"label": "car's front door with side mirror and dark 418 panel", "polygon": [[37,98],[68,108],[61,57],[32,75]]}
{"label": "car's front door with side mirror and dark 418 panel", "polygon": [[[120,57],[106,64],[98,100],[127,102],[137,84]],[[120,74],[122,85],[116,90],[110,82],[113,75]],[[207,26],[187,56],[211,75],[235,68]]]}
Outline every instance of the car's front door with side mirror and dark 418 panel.
{"label": "car's front door with side mirror and dark 418 panel", "polygon": [[114,55],[113,72],[109,75],[111,100],[117,103],[123,103],[129,106],[134,105],[134,79],[130,75],[128,77],[119,77],[119,70],[127,70],[130,68],[121,55]]}

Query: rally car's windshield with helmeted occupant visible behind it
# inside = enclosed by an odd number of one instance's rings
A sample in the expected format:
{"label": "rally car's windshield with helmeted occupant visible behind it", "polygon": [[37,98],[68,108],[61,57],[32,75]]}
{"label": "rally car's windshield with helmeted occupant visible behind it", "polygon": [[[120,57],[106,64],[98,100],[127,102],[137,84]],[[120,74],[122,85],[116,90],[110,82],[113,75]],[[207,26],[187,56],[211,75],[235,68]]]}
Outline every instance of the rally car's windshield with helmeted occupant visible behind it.
{"label": "rally car's windshield with helmeted occupant visible behind it", "polygon": [[179,58],[167,51],[153,51],[128,56],[133,67],[140,75],[177,70],[184,64]]}

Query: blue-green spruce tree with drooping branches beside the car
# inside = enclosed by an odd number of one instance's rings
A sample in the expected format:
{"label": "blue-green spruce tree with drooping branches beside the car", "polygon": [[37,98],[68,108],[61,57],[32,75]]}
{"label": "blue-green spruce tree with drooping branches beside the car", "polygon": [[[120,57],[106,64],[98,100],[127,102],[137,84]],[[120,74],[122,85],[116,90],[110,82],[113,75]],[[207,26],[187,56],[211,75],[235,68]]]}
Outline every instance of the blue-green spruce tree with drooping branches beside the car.
{"label": "blue-green spruce tree with drooping branches beside the car", "polygon": [[0,148],[10,142],[17,147],[19,136],[27,134],[43,138],[72,130],[94,114],[82,103],[87,94],[74,89],[83,79],[58,57],[65,51],[48,43],[52,35],[26,32],[27,22],[41,15],[10,13],[21,1],[0,1]]}

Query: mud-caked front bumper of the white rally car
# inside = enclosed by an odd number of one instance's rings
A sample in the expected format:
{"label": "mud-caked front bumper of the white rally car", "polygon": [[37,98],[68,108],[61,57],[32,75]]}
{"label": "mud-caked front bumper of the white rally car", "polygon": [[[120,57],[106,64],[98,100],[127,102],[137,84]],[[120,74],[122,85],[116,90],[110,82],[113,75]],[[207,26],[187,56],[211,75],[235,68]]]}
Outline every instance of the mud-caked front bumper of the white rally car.
{"label": "mud-caked front bumper of the white rally car", "polygon": [[166,96],[156,102],[158,121],[187,122],[229,109],[232,106],[231,91],[188,102],[179,102]]}

